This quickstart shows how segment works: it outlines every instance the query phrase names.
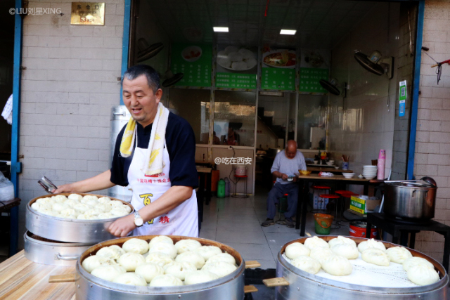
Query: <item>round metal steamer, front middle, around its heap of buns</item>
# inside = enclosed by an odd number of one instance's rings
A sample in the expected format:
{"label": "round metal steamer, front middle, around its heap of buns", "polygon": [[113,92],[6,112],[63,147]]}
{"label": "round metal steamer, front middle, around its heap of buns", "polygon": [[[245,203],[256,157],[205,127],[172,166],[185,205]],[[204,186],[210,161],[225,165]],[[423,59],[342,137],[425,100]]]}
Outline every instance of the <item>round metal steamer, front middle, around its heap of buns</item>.
{"label": "round metal steamer, front middle, around its heap of buns", "polygon": [[[134,238],[150,241],[155,235],[143,235]],[[75,278],[75,288],[77,300],[242,300],[244,298],[244,268],[245,263],[242,256],[233,248],[214,242],[194,237],[182,237],[172,235],[172,240],[178,242],[183,239],[198,240],[203,245],[213,245],[234,256],[238,268],[231,274],[223,278],[204,282],[198,285],[184,285],[181,287],[134,287],[129,285],[120,285],[114,282],[101,280],[100,278],[86,272],[81,266],[82,261],[91,254],[96,254],[98,249],[113,244],[122,246],[122,244],[131,237],[123,237],[115,240],[108,240],[101,244],[96,244],[80,256],[77,261],[77,276]]]}

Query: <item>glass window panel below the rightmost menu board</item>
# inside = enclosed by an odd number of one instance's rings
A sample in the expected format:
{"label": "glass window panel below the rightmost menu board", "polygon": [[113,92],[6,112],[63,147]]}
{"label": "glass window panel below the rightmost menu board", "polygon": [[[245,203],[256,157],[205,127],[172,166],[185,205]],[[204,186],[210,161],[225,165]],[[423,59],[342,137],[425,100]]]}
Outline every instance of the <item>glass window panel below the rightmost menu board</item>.
{"label": "glass window panel below the rightmost menu board", "polygon": [[298,100],[297,146],[325,149],[328,96],[300,95]]}

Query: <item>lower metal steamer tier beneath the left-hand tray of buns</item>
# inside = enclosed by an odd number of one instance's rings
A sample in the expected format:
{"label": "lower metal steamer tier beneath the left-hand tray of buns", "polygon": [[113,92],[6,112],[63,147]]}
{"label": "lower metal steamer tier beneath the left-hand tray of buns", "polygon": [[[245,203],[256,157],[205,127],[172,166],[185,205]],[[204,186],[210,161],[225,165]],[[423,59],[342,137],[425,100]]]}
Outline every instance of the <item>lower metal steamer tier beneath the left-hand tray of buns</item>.
{"label": "lower metal steamer tier beneath the left-hand tray of buns", "polygon": [[35,263],[52,266],[75,266],[77,259],[92,244],[49,242],[34,238],[30,231],[23,235],[25,257]]}

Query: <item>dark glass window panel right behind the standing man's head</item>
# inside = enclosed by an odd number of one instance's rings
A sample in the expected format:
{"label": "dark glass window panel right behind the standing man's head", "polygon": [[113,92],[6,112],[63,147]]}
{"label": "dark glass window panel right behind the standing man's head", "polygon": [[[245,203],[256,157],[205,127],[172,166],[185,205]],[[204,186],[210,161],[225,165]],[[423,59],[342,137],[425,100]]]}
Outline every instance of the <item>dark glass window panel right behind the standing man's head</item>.
{"label": "dark glass window panel right behind the standing man's head", "polygon": [[210,90],[170,89],[169,91],[169,108],[191,124],[197,144],[208,143],[210,98]]}

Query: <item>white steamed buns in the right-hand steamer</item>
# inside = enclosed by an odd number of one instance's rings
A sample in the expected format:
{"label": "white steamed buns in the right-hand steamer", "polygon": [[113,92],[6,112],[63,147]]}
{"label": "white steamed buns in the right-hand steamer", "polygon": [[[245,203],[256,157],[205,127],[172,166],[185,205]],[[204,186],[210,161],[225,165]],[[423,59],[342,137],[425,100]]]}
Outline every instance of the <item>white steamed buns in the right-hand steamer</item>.
{"label": "white steamed buns in the right-hand steamer", "polygon": [[383,242],[373,239],[356,242],[347,237],[339,236],[326,242],[319,237],[309,237],[304,241],[293,242],[285,248],[285,256],[292,259],[293,266],[305,272],[316,274],[322,268],[326,273],[335,276],[350,275],[353,267],[349,259],[361,259],[378,266],[389,266],[390,262],[400,263],[406,270],[406,275],[416,285],[431,285],[439,281],[435,267],[426,259],[413,257],[404,247],[386,249]]}

